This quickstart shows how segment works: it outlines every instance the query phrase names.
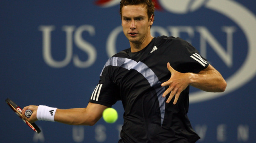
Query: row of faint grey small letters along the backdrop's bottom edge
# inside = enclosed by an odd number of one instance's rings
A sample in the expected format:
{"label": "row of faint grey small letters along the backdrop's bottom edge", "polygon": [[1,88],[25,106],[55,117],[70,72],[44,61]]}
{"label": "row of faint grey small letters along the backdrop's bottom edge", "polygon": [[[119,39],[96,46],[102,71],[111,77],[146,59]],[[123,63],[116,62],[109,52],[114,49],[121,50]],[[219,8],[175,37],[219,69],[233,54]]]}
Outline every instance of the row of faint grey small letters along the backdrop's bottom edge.
{"label": "row of faint grey small letters along the backdrop's bottom edge", "polygon": [[[116,130],[114,132],[114,130],[109,130],[104,124],[99,124],[99,125],[95,125],[94,127],[94,131],[95,131],[95,140],[96,142],[105,142],[105,141],[109,141],[109,140],[119,140],[120,139],[120,132],[122,130],[122,124],[116,124]],[[207,130],[209,129],[209,131],[213,131],[212,128],[209,128],[212,126],[208,126],[207,124],[196,124],[195,125],[195,132],[200,136],[200,140],[199,141],[206,141],[209,140],[207,137],[209,137],[209,135],[207,135]],[[113,128],[113,127],[111,127]],[[40,128],[41,129],[41,128]],[[41,129],[42,131],[42,129]],[[233,132],[228,130],[228,127],[226,124],[218,124],[216,126],[216,139],[218,142],[226,142],[226,141],[230,141],[233,140],[234,141],[234,137],[230,137],[227,136],[228,132]],[[109,139],[108,138],[108,134],[111,134],[111,137],[113,137],[113,134],[118,134],[118,138],[116,139]],[[87,138],[91,138],[92,134],[90,134],[90,136],[88,136],[88,134],[85,134],[84,132],[84,126],[73,126],[72,128],[72,138],[74,140],[74,142],[83,142],[84,141],[84,136],[86,136]],[[229,137],[229,138],[228,138]],[[249,125],[248,124],[240,124],[237,126],[237,141],[243,141],[246,142],[249,140]],[[44,134],[43,132],[41,132],[40,134],[35,133],[34,137],[33,137],[33,141],[34,142],[44,142]]]}

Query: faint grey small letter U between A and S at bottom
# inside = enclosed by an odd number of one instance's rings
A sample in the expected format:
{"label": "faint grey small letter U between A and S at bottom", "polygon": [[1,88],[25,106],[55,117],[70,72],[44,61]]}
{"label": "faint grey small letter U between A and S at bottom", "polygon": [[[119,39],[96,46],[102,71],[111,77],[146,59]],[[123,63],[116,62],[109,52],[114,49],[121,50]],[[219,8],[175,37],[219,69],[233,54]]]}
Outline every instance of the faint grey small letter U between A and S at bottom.
{"label": "faint grey small letter U between A and S at bottom", "polygon": [[75,142],[82,142],[84,140],[84,127],[83,126],[73,126],[72,137]]}

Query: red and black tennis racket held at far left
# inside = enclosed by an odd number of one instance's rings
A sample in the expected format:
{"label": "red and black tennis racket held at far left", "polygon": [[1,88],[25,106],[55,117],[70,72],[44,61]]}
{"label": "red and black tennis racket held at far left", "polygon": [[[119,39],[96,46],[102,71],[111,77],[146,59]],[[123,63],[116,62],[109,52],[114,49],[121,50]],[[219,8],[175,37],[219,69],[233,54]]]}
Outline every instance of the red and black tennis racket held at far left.
{"label": "red and black tennis racket held at far left", "polygon": [[[15,104],[11,99],[7,98],[5,100],[5,102],[11,107],[11,109],[33,130],[35,131],[36,133],[39,133],[41,132],[41,130],[39,129],[39,127],[35,124],[35,123],[29,123],[28,121],[24,120],[22,118],[22,115],[21,115],[21,112],[22,112],[22,109],[17,105]],[[27,110],[26,110],[27,111]],[[32,111],[30,110],[30,113],[27,114],[27,117],[30,117],[32,114]],[[30,116],[29,116],[30,115]]]}

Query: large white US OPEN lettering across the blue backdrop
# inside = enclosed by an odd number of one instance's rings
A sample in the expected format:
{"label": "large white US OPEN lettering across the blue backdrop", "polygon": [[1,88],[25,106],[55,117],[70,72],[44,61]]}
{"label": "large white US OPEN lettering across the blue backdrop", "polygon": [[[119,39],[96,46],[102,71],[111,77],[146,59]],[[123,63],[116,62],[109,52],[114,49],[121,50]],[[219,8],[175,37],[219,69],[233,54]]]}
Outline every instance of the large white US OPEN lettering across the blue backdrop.
{"label": "large white US OPEN lettering across the blue backdrop", "polygon": [[[39,26],[39,30],[43,32],[43,57],[46,64],[54,68],[61,68],[67,66],[72,59],[72,34],[75,31],[75,26],[63,26],[62,30],[66,32],[66,56],[62,61],[55,61],[52,57],[51,53],[51,32],[55,29],[55,26]],[[160,35],[172,35],[175,37],[179,37],[180,33],[188,33],[189,39],[186,39],[188,42],[192,42],[191,39],[194,37],[195,32],[200,34],[200,53],[202,56],[206,57],[206,42],[208,42],[212,49],[215,50],[217,55],[223,60],[223,62],[228,66],[232,66],[232,52],[233,52],[233,33],[235,32],[234,26],[223,26],[222,31],[226,32],[227,35],[227,51],[225,48],[220,45],[220,43],[212,36],[210,31],[204,26],[168,26],[167,29],[160,26],[153,26],[151,28],[151,33],[154,34],[159,33]],[[169,30],[169,31],[168,31]],[[82,38],[82,33],[84,31],[89,32],[90,36],[95,35],[95,29],[93,26],[83,25],[76,29],[74,34],[74,41],[76,46],[83,50],[88,55],[87,61],[81,61],[78,55],[74,55],[73,61],[76,67],[86,68],[91,66],[97,57],[97,51],[94,46],[84,41]],[[117,53],[116,50],[116,40],[118,34],[122,33],[122,26],[116,27],[108,36],[106,43],[106,50],[108,57],[113,56]],[[170,32],[170,34],[168,33]]]}

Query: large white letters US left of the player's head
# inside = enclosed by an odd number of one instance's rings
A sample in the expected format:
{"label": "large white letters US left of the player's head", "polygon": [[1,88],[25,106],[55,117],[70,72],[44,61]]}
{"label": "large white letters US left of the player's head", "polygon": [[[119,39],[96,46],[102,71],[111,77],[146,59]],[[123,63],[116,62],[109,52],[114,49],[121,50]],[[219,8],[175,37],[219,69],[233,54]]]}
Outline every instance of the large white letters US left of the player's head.
{"label": "large white letters US left of the player's head", "polygon": [[87,61],[81,61],[78,57],[78,55],[74,55],[73,61],[76,67],[79,68],[86,68],[91,66],[97,57],[97,52],[92,44],[90,44],[87,41],[84,41],[82,38],[82,33],[84,31],[88,31],[90,36],[95,35],[95,29],[93,26],[90,25],[83,25],[75,29],[75,26],[63,26],[62,31],[66,32],[66,56],[65,59],[62,61],[55,61],[52,57],[51,52],[51,32],[55,29],[55,26],[39,26],[39,30],[43,33],[43,58],[46,64],[53,68],[62,68],[67,66],[73,55],[73,47],[72,47],[72,41],[73,41],[73,32],[75,31],[74,41],[76,46],[83,50],[88,55]]}

